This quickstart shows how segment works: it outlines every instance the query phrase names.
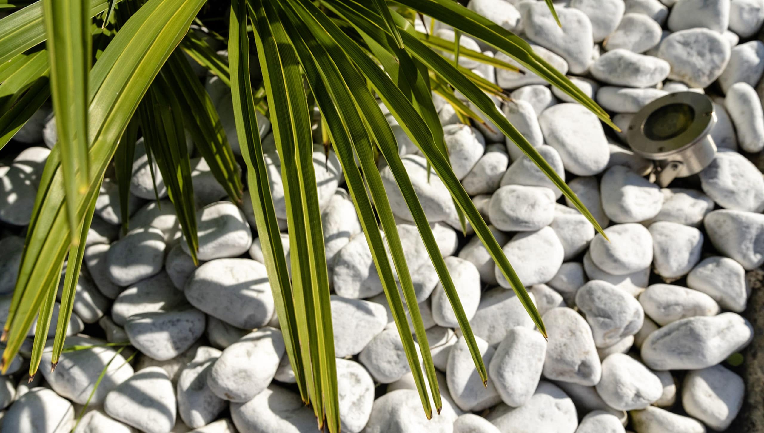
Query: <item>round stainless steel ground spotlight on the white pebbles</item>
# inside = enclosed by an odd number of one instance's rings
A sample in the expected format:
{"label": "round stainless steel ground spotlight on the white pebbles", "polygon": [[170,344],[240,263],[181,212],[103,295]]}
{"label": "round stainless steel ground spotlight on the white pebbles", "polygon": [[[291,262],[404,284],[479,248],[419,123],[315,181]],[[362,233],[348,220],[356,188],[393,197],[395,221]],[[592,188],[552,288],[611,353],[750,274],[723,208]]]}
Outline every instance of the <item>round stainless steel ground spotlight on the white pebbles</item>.
{"label": "round stainless steel ground spotlight on the white pebbles", "polygon": [[669,93],[636,113],[626,141],[634,153],[653,161],[651,180],[668,186],[677,177],[699,173],[714,160],[711,138],[714,103],[696,92]]}

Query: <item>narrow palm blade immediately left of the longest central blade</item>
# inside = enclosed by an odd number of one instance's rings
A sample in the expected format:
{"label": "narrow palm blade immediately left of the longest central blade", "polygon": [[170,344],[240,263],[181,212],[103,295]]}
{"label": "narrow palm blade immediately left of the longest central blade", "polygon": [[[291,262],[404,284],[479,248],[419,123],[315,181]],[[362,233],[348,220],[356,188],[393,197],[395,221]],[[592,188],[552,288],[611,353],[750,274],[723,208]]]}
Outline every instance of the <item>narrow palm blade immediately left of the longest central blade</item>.
{"label": "narrow palm blade immediately left of the longest central blade", "polygon": [[263,157],[254,96],[249,71],[249,37],[247,8],[244,0],[232,0],[229,24],[228,64],[231,71],[231,97],[234,104],[236,133],[241,144],[241,157],[247,164],[247,180],[257,223],[257,235],[265,258],[270,289],[274,296],[286,354],[289,356],[295,380],[303,402],[308,402],[305,366],[299,351],[297,322],[292,286],[287,272],[274,200],[270,195],[268,171]]}

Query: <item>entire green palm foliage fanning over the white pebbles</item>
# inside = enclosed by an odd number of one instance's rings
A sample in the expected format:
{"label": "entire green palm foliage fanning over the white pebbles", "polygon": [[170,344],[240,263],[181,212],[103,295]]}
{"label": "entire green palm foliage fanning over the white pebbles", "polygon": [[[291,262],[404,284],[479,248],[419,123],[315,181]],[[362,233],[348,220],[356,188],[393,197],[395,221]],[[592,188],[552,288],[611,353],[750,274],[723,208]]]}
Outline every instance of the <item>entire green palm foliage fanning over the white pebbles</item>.
{"label": "entire green palm foliage fanning over the white pebbles", "polygon": [[[286,354],[303,401],[312,403],[319,428],[335,433],[340,423],[329,278],[313,165],[313,104],[322,115],[322,144],[332,147],[342,166],[427,417],[432,416],[432,403],[440,411],[440,391],[403,245],[377,170],[378,157],[390,167],[410,208],[484,381],[487,373],[377,98],[419,147],[432,173],[442,179],[461,224],[474,228],[545,334],[525,287],[453,173],[432,92],[452,104],[463,121],[472,118],[485,124],[485,118],[494,124],[601,232],[571,189],[489,98],[506,99],[503,89],[458,66],[458,58],[518,69],[460,47],[458,35],[468,34],[507,53],[524,69],[548,80],[612,125],[600,107],[520,37],[452,0],[399,0],[394,8],[385,0],[233,0],[230,15],[217,6],[217,15],[197,18],[206,3],[215,11],[214,2],[205,0],[89,0],[85,5],[76,0],[40,0],[25,8],[0,3],[2,8],[15,10],[0,19],[0,107],[5,108],[0,115],[0,148],[51,94],[60,136],[40,178],[5,323],[4,369],[39,313],[30,374],[36,372],[68,254],[52,367],[67,350],[63,346],[66,324],[95,198],[113,163],[125,231],[139,132],[147,155],[156,161],[167,185],[195,262],[196,207],[186,133],[231,200],[242,204],[243,183],[228,143],[231,137],[225,136],[215,105],[186,55],[231,88],[236,134]],[[420,14],[454,27],[455,41],[414,31],[411,20]],[[95,16],[101,17],[97,23],[92,20]],[[189,31],[192,22],[199,27]],[[208,23],[218,27],[209,30]],[[215,31],[227,32],[228,39]],[[227,44],[227,61],[213,50],[211,40]],[[92,53],[95,64],[91,69]],[[452,53],[456,60],[447,60],[443,53]],[[261,75],[250,64],[252,58],[259,61]],[[254,76],[262,79],[253,82]],[[471,104],[458,99],[456,91]],[[270,194],[257,111],[272,124],[280,158],[294,270],[291,279]]]}

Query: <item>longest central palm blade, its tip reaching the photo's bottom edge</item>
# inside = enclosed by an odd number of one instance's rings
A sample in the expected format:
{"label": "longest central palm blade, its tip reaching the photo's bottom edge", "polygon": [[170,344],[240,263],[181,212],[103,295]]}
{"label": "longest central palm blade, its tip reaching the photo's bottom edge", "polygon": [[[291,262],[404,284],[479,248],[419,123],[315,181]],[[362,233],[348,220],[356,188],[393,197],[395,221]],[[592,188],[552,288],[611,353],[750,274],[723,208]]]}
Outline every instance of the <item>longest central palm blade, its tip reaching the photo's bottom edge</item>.
{"label": "longest central palm blade, its tip reaching the photo's bottom edge", "polygon": [[295,305],[298,311],[305,312],[306,320],[303,326],[298,326],[298,333],[303,360],[310,360],[312,376],[306,375],[308,388],[319,429],[323,428],[326,417],[329,431],[339,431],[334,346],[330,344],[329,278],[302,73],[275,5],[251,0],[249,6],[257,54],[264,66],[267,98],[272,102],[270,120],[281,160]]}

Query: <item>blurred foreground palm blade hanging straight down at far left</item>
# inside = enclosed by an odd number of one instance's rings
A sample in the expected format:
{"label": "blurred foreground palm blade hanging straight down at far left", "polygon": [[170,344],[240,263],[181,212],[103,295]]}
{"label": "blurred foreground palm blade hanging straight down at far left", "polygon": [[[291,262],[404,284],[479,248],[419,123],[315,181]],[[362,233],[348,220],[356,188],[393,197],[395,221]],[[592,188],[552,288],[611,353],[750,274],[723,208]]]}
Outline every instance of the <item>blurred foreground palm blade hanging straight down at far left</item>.
{"label": "blurred foreground palm blade hanging straight down at far left", "polygon": [[44,0],[50,88],[61,149],[66,215],[71,242],[79,242],[76,197],[87,191],[88,75],[91,30],[88,5],[81,0]]}

